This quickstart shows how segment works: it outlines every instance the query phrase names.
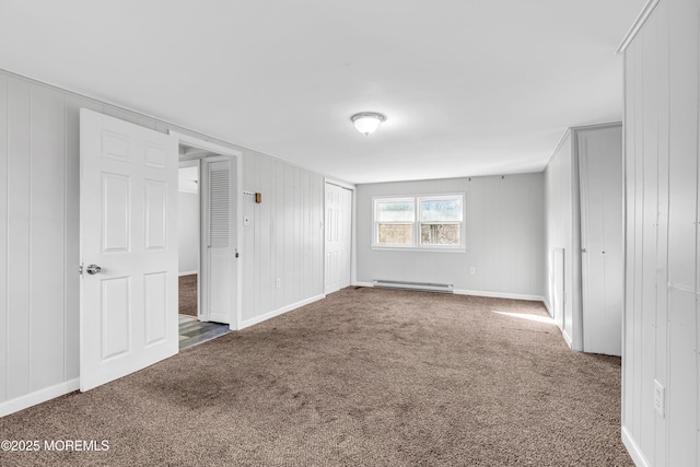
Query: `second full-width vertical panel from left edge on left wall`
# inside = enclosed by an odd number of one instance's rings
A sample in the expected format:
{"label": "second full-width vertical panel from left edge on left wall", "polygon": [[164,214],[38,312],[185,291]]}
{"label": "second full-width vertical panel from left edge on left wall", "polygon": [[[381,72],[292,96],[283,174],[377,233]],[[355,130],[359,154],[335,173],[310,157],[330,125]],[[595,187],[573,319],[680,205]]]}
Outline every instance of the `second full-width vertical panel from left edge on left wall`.
{"label": "second full-width vertical panel from left edge on left wall", "polygon": [[[63,95],[33,86],[31,113],[30,388],[35,390],[61,383],[66,361],[63,351],[56,351],[65,350]],[[47,232],[51,234],[46,235]]]}

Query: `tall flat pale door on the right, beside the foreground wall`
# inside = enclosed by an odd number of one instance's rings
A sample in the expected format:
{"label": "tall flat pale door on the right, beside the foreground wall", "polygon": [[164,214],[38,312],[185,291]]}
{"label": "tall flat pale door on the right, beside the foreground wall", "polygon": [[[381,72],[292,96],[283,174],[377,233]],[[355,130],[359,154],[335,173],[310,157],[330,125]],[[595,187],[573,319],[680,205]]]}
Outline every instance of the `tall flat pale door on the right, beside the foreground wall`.
{"label": "tall flat pale door on the right, beside the foreground wall", "polygon": [[621,128],[582,131],[578,139],[583,351],[620,355],[625,290]]}

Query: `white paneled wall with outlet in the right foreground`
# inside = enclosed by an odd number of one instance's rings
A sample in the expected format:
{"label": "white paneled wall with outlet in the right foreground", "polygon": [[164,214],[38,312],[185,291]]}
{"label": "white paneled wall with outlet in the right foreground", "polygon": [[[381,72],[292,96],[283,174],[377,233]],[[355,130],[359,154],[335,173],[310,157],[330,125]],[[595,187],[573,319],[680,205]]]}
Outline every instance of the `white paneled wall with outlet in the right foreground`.
{"label": "white paneled wall with outlet in the right foreground", "polygon": [[699,17],[697,0],[661,0],[625,54],[622,437],[638,465],[700,464]]}

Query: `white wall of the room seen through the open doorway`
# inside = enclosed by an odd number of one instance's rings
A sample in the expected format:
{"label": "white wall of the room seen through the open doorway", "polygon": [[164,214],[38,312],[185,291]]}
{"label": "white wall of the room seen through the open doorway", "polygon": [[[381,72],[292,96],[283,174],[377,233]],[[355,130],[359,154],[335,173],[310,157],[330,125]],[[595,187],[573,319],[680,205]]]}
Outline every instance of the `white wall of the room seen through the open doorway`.
{"label": "white wall of the room seen through the open doorway", "polygon": [[199,195],[177,192],[178,269],[180,276],[199,270]]}

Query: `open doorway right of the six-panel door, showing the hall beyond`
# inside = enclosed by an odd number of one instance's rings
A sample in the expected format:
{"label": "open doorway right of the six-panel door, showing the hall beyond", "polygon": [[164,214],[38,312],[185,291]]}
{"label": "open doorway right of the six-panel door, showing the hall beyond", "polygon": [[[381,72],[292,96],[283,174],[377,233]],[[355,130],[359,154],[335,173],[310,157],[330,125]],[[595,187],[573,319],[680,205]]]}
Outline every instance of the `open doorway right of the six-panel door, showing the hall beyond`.
{"label": "open doorway right of the six-panel door, showing the hall beyond", "polygon": [[236,328],[238,161],[205,141],[178,137],[182,350]]}

